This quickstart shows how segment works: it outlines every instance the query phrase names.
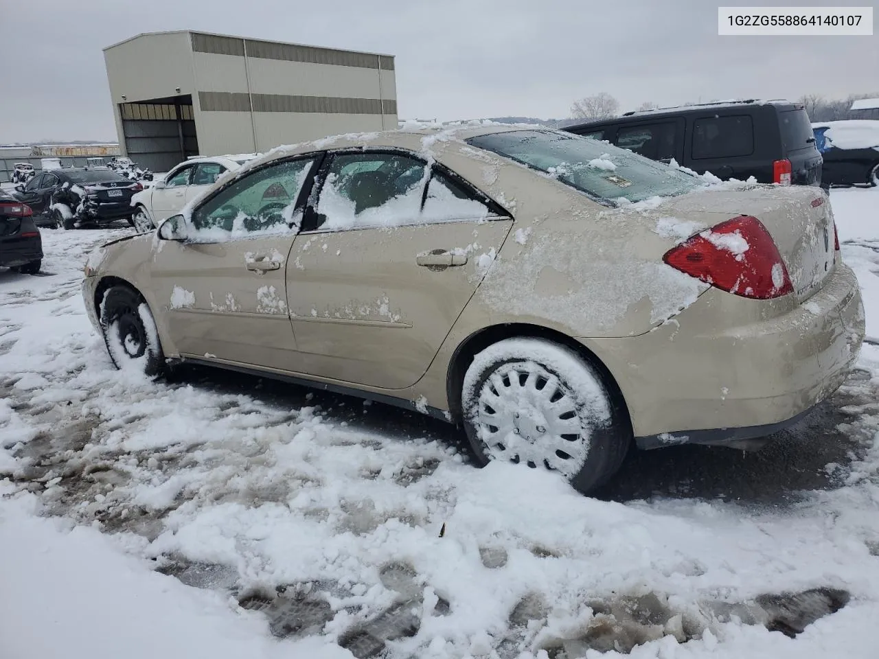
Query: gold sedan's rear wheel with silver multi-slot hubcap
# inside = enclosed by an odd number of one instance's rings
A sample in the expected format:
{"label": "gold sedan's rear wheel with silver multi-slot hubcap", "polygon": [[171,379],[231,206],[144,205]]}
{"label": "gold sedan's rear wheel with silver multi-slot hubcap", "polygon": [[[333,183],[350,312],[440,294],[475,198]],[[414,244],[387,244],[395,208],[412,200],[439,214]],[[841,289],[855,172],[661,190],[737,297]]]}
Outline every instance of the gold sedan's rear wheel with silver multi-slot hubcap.
{"label": "gold sedan's rear wheel with silver multi-slot hubcap", "polygon": [[478,353],[461,408],[481,466],[546,468],[584,494],[616,473],[631,444],[628,416],[598,369],[544,339],[505,339]]}

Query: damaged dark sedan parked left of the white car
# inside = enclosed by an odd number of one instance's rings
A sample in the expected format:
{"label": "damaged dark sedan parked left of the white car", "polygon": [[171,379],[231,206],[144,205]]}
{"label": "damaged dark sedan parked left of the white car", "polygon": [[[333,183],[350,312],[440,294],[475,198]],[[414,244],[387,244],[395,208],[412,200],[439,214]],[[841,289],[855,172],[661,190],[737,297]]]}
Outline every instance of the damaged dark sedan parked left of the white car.
{"label": "damaged dark sedan parked left of the white car", "polygon": [[69,167],[44,171],[14,196],[33,208],[40,226],[79,228],[127,220],[132,223],[131,197],[142,186],[111,170]]}

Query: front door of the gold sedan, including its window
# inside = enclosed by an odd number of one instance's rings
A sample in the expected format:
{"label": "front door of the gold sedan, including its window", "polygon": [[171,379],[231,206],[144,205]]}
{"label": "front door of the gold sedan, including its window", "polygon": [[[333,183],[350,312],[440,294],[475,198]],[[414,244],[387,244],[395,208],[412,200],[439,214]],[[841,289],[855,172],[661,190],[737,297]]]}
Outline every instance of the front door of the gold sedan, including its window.
{"label": "front door of the gold sedan, including its window", "polygon": [[252,171],[193,210],[185,242],[158,243],[151,290],[183,356],[298,370],[285,272],[312,164]]}

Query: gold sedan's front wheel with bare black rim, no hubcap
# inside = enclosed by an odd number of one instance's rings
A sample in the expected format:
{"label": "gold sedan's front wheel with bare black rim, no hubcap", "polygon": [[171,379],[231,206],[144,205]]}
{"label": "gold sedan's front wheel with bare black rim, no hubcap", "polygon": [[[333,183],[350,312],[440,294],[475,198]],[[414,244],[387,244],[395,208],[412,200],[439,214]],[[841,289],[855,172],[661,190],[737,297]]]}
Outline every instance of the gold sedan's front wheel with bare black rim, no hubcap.
{"label": "gold sedan's front wheel with bare black rim, no hubcap", "polygon": [[165,368],[156,321],[140,293],[128,286],[113,286],[101,305],[101,333],[113,366],[120,371],[136,366],[149,377]]}

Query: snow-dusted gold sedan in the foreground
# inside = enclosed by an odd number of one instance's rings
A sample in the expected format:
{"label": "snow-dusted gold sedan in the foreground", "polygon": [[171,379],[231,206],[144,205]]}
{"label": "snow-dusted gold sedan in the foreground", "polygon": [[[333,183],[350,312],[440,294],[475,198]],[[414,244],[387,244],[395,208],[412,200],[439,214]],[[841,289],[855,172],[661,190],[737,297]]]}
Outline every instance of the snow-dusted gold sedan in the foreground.
{"label": "snow-dusted gold sedan in the foreground", "polygon": [[[715,179],[716,180],[716,179]],[[634,442],[754,448],[864,337],[828,198],[707,185],[578,135],[476,124],[278,148],[94,251],[120,368],[192,362],[461,424],[478,464],[583,492]]]}

